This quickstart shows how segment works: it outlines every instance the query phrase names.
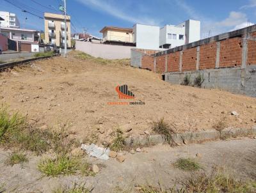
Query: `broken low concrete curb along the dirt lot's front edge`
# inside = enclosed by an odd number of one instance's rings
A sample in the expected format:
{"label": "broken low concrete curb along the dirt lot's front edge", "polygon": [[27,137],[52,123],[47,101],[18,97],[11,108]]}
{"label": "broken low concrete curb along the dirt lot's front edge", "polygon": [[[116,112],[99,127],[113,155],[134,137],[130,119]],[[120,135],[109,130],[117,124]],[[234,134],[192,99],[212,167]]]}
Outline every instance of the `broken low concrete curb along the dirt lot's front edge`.
{"label": "broken low concrete curb along the dirt lot's front edge", "polygon": [[[172,135],[172,144],[202,143],[204,141],[214,141],[218,139],[228,139],[232,137],[246,137],[256,134],[256,126],[247,128],[225,128],[218,130],[205,130],[202,132],[186,132]],[[143,137],[129,137],[125,139],[125,145],[148,146],[167,143],[162,135],[147,135]]]}

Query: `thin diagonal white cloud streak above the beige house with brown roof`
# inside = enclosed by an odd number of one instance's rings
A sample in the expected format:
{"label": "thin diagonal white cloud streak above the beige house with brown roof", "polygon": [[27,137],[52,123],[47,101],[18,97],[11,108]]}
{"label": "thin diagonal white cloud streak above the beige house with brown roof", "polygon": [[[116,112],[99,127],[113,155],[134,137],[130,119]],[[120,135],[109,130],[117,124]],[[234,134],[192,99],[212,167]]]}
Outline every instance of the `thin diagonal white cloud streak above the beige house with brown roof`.
{"label": "thin diagonal white cloud streak above the beige house with brown roof", "polygon": [[[132,23],[141,23],[141,24],[148,24],[148,25],[158,25],[159,22],[157,20],[152,19],[148,16],[141,16],[141,17],[133,17],[132,12],[128,10],[128,13],[125,13],[124,10],[122,10],[121,7],[117,7],[116,3],[111,2],[104,2],[100,0],[76,0],[80,3],[83,3],[85,6],[88,6],[89,8],[93,8],[95,10],[99,10],[101,12],[108,13],[109,15],[112,15],[118,19],[126,20],[128,22]],[[134,10],[132,10],[134,11]]]}

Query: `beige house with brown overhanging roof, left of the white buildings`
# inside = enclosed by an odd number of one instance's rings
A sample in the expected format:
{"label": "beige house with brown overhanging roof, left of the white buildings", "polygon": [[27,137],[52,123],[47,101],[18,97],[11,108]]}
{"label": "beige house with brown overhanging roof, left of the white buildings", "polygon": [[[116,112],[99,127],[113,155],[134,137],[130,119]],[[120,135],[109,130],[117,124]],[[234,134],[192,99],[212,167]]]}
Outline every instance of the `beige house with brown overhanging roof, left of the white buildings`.
{"label": "beige house with brown overhanging roof, left of the white buildings", "polygon": [[106,26],[100,33],[103,43],[133,43],[132,28]]}

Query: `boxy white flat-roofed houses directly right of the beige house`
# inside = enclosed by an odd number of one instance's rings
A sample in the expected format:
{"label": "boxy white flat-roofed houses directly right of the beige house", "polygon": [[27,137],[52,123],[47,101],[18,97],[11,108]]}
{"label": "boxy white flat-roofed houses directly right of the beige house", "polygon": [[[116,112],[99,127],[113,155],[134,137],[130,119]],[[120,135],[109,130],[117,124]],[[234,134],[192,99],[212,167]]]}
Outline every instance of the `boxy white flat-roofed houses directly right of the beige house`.
{"label": "boxy white flat-roofed houses directly right of the beige house", "polygon": [[200,21],[189,19],[177,26],[161,28],[135,24],[132,33],[138,49],[171,49],[200,40]]}

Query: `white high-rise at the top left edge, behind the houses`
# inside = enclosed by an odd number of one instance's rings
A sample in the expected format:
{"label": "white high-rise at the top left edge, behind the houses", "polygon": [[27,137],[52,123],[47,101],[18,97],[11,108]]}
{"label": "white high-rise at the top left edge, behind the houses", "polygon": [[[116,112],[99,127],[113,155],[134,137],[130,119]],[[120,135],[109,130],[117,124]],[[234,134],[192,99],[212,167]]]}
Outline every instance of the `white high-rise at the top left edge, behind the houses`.
{"label": "white high-rise at the top left edge, behind the houses", "polygon": [[4,19],[1,21],[1,27],[20,28],[20,22],[15,13],[0,12],[0,17]]}

